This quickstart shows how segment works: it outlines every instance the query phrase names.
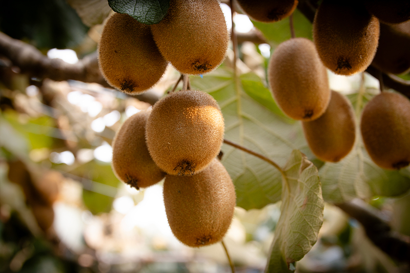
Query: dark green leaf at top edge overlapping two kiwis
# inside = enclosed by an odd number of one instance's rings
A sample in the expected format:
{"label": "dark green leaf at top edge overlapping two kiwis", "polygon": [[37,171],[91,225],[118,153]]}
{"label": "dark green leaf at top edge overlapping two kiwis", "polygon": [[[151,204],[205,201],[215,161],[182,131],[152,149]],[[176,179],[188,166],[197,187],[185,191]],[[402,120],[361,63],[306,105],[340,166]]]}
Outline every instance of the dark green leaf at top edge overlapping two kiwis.
{"label": "dark green leaf at top edge overlapping two kiwis", "polygon": [[168,12],[170,0],[108,0],[118,13],[127,13],[139,23],[152,25],[161,22]]}

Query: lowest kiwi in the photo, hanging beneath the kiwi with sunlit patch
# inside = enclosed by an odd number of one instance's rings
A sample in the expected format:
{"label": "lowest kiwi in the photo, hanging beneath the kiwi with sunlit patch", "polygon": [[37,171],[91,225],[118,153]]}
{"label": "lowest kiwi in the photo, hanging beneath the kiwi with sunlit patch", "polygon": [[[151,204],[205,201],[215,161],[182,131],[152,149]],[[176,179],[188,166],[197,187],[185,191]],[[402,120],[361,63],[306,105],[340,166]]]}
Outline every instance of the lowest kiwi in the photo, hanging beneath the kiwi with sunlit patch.
{"label": "lowest kiwi in the photo, hanging beneath the kiwi with sunlit patch", "polygon": [[236,203],[231,177],[217,159],[199,174],[167,176],[163,199],[172,233],[193,247],[222,240]]}

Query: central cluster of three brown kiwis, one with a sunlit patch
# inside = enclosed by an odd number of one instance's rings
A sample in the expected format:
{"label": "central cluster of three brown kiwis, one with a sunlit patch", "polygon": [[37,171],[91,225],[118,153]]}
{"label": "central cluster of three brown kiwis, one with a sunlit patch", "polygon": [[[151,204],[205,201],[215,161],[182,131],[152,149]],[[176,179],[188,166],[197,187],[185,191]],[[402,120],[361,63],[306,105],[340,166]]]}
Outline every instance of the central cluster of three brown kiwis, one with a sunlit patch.
{"label": "central cluster of three brown kiwis, one with a sunlit patch", "polygon": [[224,133],[218,103],[201,91],[174,92],[128,118],[113,141],[116,176],[136,188],[165,176],[163,197],[175,237],[198,247],[227,232],[235,188],[216,159]]}

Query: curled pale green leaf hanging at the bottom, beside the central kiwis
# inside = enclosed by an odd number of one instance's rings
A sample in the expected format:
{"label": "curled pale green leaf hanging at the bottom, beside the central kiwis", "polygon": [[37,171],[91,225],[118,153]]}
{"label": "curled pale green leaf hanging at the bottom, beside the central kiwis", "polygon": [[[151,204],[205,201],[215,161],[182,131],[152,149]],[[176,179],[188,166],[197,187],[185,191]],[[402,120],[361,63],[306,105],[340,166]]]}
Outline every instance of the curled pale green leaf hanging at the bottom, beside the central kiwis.
{"label": "curled pale green leaf hanging at the bottom, beside the central kiwis", "polygon": [[265,272],[292,272],[316,243],[324,201],[316,167],[295,150],[283,167],[282,205]]}

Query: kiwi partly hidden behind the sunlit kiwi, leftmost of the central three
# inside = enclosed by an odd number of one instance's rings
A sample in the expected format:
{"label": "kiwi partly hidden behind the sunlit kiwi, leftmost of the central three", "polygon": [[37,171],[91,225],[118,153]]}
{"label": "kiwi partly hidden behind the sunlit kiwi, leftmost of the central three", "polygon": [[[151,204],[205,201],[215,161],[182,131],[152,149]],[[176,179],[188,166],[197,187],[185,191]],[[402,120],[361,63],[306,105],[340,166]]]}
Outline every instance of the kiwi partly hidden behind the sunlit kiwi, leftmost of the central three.
{"label": "kiwi partly hidden behind the sunlit kiwi, leftmost of the central three", "polygon": [[145,128],[149,111],[129,117],[114,137],[112,169],[116,177],[135,187],[151,186],[165,177],[152,160],[145,142]]}

